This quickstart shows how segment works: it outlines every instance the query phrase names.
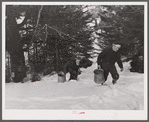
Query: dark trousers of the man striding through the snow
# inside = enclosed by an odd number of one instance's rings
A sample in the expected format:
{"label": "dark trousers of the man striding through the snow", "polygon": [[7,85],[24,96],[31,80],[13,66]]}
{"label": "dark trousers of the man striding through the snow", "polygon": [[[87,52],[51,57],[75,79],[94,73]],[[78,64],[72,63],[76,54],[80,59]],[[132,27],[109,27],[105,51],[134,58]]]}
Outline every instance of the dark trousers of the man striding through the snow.
{"label": "dark trousers of the man striding through the snow", "polygon": [[113,79],[115,80],[119,79],[119,74],[117,73],[115,65],[110,65],[109,63],[103,63],[101,68],[104,70],[105,81],[107,80],[109,73],[111,74]]}

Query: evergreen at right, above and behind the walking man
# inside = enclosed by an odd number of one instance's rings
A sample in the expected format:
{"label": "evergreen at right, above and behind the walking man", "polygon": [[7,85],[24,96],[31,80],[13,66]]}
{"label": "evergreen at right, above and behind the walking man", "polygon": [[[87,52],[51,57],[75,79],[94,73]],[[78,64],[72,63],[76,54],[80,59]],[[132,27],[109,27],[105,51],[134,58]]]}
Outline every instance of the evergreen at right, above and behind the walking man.
{"label": "evergreen at right, above and behind the walking man", "polygon": [[132,59],[131,71],[143,72],[144,6],[102,6],[99,16],[101,22],[96,28],[99,46],[105,48],[119,41],[121,55]]}

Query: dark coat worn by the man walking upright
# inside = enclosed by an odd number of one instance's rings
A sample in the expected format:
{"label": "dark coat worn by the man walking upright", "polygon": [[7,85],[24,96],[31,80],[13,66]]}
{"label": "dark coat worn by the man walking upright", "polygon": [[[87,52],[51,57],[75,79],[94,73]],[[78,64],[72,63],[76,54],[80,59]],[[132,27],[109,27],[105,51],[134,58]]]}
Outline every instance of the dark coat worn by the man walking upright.
{"label": "dark coat worn by the man walking upright", "polygon": [[108,70],[117,62],[120,68],[123,68],[120,55],[113,51],[112,47],[105,48],[97,58],[97,64],[101,67],[104,65],[104,70]]}

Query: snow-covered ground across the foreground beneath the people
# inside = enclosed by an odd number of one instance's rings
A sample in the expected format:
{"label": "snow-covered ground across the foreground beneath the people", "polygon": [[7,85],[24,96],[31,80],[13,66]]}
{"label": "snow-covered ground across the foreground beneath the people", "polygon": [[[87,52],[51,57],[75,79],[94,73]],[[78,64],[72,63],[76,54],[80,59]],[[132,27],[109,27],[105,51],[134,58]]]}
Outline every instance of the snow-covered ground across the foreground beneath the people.
{"label": "snow-covered ground across the foreground beneath the people", "polygon": [[53,75],[34,83],[7,83],[5,109],[144,110],[144,74],[130,72],[126,62],[123,72],[117,66],[120,79],[116,85],[109,75],[101,86],[93,81],[96,59],[93,62],[91,67],[81,69],[79,81],[57,83],[57,75]]}

